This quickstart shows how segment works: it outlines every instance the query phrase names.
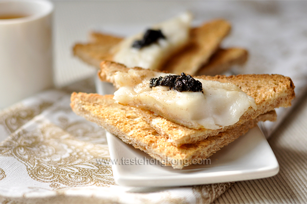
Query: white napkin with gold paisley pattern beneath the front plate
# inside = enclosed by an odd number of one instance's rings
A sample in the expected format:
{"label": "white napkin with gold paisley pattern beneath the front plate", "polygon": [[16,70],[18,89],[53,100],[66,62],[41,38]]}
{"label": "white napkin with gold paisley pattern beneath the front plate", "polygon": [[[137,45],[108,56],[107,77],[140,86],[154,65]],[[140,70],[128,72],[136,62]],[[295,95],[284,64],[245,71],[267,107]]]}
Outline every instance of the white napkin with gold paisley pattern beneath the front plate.
{"label": "white napkin with gold paisley pattern beneath the front plate", "polygon": [[118,186],[111,165],[97,163],[109,159],[105,131],[72,112],[72,91],[94,92],[93,80],[0,112],[2,203],[210,203],[232,186]]}

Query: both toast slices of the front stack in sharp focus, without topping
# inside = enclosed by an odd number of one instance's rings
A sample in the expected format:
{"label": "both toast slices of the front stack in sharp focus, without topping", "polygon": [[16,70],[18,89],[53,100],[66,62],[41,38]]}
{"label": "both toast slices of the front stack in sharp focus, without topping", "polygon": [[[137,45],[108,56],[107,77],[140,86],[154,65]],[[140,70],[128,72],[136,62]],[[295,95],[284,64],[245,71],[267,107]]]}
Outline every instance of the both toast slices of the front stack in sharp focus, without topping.
{"label": "both toast slices of the front stack in sharp focus, without topping", "polygon": [[[134,69],[144,71],[142,68]],[[127,70],[128,68],[122,64],[105,61],[101,63],[99,77],[103,81],[115,83],[114,73]],[[291,79],[277,74],[230,77],[216,75],[198,78],[235,84],[255,99],[257,110],[248,109],[237,123],[222,129],[195,130],[171,122],[148,110],[117,104],[112,95],[73,93],[71,107],[76,114],[96,122],[124,142],[158,159],[162,164],[181,169],[193,164],[195,160],[207,159],[223,146],[244,135],[258,121],[274,121],[274,109],[291,106],[291,100],[295,96]]]}

